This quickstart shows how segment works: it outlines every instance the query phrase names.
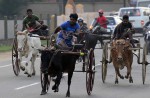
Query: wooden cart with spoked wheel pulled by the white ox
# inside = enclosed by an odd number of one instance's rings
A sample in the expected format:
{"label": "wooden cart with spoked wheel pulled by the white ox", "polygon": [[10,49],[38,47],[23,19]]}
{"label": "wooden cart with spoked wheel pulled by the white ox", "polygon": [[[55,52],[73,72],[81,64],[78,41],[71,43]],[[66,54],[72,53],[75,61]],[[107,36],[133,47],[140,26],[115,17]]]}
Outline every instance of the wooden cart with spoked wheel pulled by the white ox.
{"label": "wooden cart with spoked wheel pulled by the white ox", "polygon": [[[47,41],[47,47],[49,45],[49,36],[33,36],[30,33],[28,34],[28,36],[30,36],[30,37],[39,37],[41,40],[46,40]],[[16,76],[19,75],[20,69],[22,69],[23,71],[25,70],[24,68],[19,66],[17,31],[16,31],[16,34],[15,34],[15,37],[14,37],[13,43],[12,43],[12,66],[13,66],[14,74]]]}

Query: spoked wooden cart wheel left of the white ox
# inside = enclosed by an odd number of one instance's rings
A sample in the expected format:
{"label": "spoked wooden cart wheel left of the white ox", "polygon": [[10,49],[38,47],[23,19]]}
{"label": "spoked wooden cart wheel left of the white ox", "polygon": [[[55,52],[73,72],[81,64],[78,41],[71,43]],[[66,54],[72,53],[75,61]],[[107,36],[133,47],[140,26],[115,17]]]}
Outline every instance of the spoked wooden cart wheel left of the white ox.
{"label": "spoked wooden cart wheel left of the white ox", "polygon": [[13,46],[12,46],[12,66],[13,71],[16,76],[20,73],[20,66],[18,61],[18,51],[17,51],[17,41],[14,39]]}

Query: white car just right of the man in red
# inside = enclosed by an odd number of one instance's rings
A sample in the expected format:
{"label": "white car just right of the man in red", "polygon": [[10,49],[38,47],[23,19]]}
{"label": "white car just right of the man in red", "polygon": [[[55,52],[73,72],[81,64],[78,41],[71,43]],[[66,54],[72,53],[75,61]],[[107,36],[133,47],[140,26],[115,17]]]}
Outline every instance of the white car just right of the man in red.
{"label": "white car just right of the man in red", "polygon": [[106,16],[107,20],[109,21],[109,24],[107,25],[107,28],[110,28],[111,32],[113,33],[115,30],[115,27],[122,22],[122,20],[117,16]]}

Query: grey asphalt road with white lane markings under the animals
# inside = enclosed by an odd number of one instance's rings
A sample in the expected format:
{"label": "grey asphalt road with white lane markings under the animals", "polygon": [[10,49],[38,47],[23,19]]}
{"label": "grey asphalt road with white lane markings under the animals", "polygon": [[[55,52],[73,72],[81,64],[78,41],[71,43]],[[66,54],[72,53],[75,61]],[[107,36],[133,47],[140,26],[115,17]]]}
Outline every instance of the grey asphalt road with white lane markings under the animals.
{"label": "grey asphalt road with white lane markings under the animals", "polygon": [[[141,46],[143,46],[141,40]],[[91,96],[86,93],[86,74],[74,73],[71,84],[71,98],[149,98],[150,96],[150,67],[147,66],[145,85],[142,84],[142,66],[137,64],[137,58],[134,56],[132,76],[133,83],[127,79],[119,79],[119,84],[115,84],[115,71],[112,63],[108,64],[106,83],[101,79],[101,50],[95,50],[96,74],[95,84]],[[142,52],[141,52],[142,56]],[[150,62],[150,55],[148,56]],[[11,66],[11,57],[0,60],[0,98],[65,98],[67,91],[67,75],[65,75],[60,84],[59,92],[54,93],[51,90],[47,95],[41,96],[40,59],[36,60],[36,75],[27,77],[23,72],[15,76]],[[76,65],[76,70],[81,69],[81,64]],[[121,70],[125,75],[126,68]]]}

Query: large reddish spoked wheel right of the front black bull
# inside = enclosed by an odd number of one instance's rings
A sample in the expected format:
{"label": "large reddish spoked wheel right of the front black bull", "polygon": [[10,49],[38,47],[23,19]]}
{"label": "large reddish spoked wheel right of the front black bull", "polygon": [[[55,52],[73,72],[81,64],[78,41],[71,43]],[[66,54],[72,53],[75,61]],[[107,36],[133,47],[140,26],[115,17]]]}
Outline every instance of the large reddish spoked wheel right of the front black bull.
{"label": "large reddish spoked wheel right of the front black bull", "polygon": [[86,90],[91,95],[95,78],[95,57],[94,50],[91,48],[88,55],[88,63],[86,63]]}

